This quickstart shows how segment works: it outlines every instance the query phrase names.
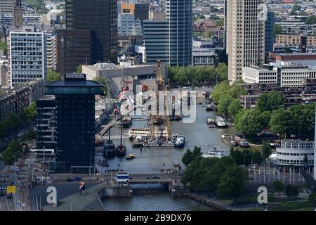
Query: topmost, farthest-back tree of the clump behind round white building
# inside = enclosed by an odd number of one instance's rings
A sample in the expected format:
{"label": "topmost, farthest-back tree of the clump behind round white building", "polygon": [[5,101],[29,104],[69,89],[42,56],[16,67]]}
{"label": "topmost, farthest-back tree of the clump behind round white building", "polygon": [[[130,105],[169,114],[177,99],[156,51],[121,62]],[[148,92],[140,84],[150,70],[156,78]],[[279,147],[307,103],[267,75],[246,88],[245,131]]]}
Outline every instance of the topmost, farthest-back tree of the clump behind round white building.
{"label": "topmost, farthest-back tree of the clump behind round white building", "polygon": [[277,110],[279,108],[284,107],[284,95],[279,91],[269,91],[261,94],[256,103],[256,107],[258,107],[261,111],[269,111]]}

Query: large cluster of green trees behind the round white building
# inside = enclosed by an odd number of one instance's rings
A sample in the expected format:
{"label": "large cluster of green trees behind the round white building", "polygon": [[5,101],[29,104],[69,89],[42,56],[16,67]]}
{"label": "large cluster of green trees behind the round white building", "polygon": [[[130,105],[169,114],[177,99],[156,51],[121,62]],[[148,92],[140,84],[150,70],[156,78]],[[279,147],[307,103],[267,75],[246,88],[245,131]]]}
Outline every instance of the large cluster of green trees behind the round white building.
{"label": "large cluster of green trees behind the round white building", "polygon": [[313,139],[315,127],[315,103],[291,105],[284,108],[285,98],[281,92],[270,91],[259,96],[256,108],[240,110],[234,123],[244,136],[256,136],[270,129],[281,139],[294,137]]}

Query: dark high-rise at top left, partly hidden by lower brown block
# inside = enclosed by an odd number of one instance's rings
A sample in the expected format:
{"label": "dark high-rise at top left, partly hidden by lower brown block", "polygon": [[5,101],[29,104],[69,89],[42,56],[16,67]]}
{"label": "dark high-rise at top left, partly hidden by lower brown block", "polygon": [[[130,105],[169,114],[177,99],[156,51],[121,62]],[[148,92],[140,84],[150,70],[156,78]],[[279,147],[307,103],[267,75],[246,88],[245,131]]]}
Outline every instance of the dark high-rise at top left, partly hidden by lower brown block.
{"label": "dark high-rise at top left, partly hidden by lower brown block", "polygon": [[117,0],[66,0],[67,30],[91,30],[91,63],[117,63]]}

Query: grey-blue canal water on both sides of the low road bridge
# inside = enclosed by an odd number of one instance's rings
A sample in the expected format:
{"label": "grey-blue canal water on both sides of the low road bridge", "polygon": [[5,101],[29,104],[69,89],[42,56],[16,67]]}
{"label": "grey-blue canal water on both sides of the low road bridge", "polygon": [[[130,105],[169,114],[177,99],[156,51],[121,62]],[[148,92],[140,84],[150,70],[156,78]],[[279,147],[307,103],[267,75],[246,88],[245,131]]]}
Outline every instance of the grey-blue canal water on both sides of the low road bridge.
{"label": "grey-blue canal water on both sides of the low road bridge", "polygon": [[[184,124],[183,121],[171,122],[173,134],[182,134],[185,136],[185,148],[146,148],[142,151],[140,148],[132,148],[129,139],[123,139],[127,148],[127,154],[136,155],[134,160],[125,160],[125,158],[114,158],[108,161],[107,169],[124,169],[130,173],[160,172],[160,169],[170,169],[174,163],[180,163],[183,154],[187,148],[200,146],[203,153],[207,153],[211,146],[221,146],[230,150],[228,146],[221,141],[222,134],[235,134],[235,128],[217,129],[209,128],[206,125],[207,117],[215,117],[215,113],[206,112],[206,102],[204,98],[197,98],[197,117],[194,123]],[[143,128],[147,126],[147,121],[133,121],[134,128]],[[124,129],[127,133],[129,129]],[[111,129],[111,135],[114,136],[114,143],[119,143],[119,127]],[[105,167],[103,171],[105,172]],[[135,210],[135,211],[195,211],[195,210],[216,210],[209,205],[204,205],[190,198],[171,198],[171,195],[162,186],[159,185],[140,185],[133,186],[133,198],[105,198],[103,203],[106,210]]]}

